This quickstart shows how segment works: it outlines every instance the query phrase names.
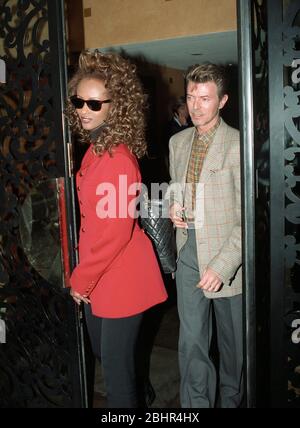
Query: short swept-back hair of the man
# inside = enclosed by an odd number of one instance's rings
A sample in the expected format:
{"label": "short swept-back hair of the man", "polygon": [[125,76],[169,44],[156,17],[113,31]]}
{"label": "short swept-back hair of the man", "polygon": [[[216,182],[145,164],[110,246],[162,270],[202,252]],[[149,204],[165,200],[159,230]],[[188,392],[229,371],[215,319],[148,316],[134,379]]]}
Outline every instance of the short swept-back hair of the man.
{"label": "short swept-back hair of the man", "polygon": [[214,82],[217,85],[220,99],[227,93],[228,81],[225,67],[223,66],[210,63],[193,65],[187,70],[185,80],[187,84],[189,82]]}

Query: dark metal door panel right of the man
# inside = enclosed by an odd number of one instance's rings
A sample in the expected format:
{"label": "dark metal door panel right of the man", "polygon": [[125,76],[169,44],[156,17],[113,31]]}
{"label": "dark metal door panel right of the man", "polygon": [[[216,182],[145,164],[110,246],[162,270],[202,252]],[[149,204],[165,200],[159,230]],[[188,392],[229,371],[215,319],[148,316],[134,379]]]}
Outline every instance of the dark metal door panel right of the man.
{"label": "dark metal door panel right of the man", "polygon": [[300,4],[239,19],[248,406],[300,407]]}

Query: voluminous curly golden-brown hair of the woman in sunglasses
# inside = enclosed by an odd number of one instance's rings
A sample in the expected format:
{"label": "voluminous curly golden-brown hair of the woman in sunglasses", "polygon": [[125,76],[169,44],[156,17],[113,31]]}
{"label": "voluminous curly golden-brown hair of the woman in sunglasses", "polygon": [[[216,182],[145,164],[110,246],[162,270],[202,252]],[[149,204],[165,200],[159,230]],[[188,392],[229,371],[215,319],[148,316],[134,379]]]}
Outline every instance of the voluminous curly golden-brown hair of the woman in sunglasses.
{"label": "voluminous curly golden-brown hair of the woman in sunglasses", "polygon": [[[76,95],[84,79],[104,82],[112,100],[106,125],[92,141],[94,152],[100,156],[119,144],[126,144],[137,158],[146,154],[145,109],[146,95],[137,77],[136,66],[115,53],[84,51],[79,57],[79,68],[69,82],[69,97]],[[91,142],[90,132],[82,128],[78,114],[70,99],[65,114],[73,132],[81,141]]]}

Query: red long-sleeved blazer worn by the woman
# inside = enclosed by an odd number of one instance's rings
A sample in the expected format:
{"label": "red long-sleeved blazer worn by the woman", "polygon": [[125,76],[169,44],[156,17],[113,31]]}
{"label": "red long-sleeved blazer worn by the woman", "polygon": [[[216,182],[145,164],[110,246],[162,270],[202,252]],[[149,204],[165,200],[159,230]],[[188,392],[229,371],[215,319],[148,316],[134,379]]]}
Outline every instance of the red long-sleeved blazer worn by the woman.
{"label": "red long-sleeved blazer worn by the woman", "polygon": [[76,181],[81,226],[71,287],[89,296],[93,314],[104,318],[135,315],[165,301],[152,244],[127,213],[134,211],[141,183],[135,156],[123,144],[112,157],[96,156],[90,147]]}

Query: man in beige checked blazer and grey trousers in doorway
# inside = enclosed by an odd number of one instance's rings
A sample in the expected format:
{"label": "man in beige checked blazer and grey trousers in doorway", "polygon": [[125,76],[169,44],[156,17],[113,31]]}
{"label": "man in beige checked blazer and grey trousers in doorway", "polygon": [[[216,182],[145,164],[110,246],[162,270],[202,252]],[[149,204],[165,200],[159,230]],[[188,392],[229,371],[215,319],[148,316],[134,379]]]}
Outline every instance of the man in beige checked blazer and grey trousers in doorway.
{"label": "man in beige checked blazer and grey trousers in doorway", "polygon": [[210,359],[212,310],[219,367],[219,405],[243,395],[242,249],[239,132],[221,118],[226,78],[214,64],[187,73],[194,127],[170,140],[170,217],[177,228],[182,407],[214,407],[217,375]]}

